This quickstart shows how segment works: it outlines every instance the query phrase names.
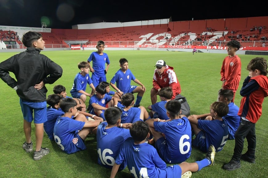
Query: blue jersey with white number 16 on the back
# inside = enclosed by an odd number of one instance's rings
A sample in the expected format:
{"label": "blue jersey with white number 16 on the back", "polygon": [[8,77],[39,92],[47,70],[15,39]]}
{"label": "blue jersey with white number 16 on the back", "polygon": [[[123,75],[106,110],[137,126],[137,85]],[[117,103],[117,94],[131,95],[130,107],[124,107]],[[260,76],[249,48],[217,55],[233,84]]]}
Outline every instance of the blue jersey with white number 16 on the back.
{"label": "blue jersey with white number 16 on the back", "polygon": [[[102,122],[97,129],[98,163],[106,168],[112,169],[121,145],[131,135],[128,129],[119,127],[105,129],[107,125],[107,122]],[[119,169],[123,170],[125,167],[126,163],[123,162]]]}

